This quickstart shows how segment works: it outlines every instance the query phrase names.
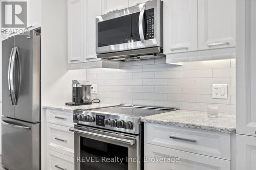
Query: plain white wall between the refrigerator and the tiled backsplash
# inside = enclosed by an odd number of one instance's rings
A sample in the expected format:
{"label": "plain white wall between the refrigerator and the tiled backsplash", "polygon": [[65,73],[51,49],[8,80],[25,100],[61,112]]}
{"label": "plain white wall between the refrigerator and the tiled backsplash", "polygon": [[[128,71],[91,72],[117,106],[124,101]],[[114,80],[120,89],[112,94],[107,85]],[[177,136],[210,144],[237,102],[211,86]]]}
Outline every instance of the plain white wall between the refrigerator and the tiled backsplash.
{"label": "plain white wall between the refrigerator and the tiled backsplash", "polygon": [[72,79],[86,80],[86,70],[68,70],[67,1],[42,1],[42,106],[72,101]]}

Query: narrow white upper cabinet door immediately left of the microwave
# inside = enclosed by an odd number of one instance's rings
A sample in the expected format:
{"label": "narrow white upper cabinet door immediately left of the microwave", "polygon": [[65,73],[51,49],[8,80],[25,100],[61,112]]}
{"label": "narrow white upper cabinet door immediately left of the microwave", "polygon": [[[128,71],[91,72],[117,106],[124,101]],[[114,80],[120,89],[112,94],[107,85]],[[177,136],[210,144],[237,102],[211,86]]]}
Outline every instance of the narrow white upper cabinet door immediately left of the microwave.
{"label": "narrow white upper cabinet door immediately left of the microwave", "polygon": [[101,14],[101,0],[84,1],[84,61],[96,59],[96,20]]}

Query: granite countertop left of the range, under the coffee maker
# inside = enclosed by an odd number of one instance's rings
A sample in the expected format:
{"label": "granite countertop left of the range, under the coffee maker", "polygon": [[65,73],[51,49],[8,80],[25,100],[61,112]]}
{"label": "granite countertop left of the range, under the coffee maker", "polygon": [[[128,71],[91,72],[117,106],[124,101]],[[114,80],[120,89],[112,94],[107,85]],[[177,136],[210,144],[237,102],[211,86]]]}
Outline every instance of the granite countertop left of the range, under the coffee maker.
{"label": "granite countertop left of the range, under the coffee maker", "polygon": [[59,111],[66,111],[66,112],[73,112],[75,109],[98,109],[103,107],[110,107],[116,106],[113,104],[103,104],[103,103],[92,103],[91,105],[82,105],[82,106],[66,106],[66,105],[47,105],[42,106],[43,109],[50,109],[50,110],[59,110]]}

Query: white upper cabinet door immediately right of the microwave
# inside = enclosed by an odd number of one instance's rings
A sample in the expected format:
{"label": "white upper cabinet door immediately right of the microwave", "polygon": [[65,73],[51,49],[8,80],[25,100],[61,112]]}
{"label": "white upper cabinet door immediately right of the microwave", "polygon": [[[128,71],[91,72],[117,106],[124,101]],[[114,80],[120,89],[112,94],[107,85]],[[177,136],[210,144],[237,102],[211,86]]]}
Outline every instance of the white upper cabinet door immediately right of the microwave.
{"label": "white upper cabinet door immediately right of the microwave", "polygon": [[198,50],[198,1],[164,1],[164,53]]}

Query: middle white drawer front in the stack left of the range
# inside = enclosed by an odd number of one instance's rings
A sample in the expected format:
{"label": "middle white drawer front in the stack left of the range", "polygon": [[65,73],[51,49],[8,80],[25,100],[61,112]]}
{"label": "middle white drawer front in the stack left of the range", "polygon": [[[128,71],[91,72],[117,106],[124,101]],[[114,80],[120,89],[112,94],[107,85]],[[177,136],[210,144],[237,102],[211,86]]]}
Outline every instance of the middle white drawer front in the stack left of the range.
{"label": "middle white drawer front in the stack left of the range", "polygon": [[47,123],[47,148],[74,157],[74,133],[69,127]]}

